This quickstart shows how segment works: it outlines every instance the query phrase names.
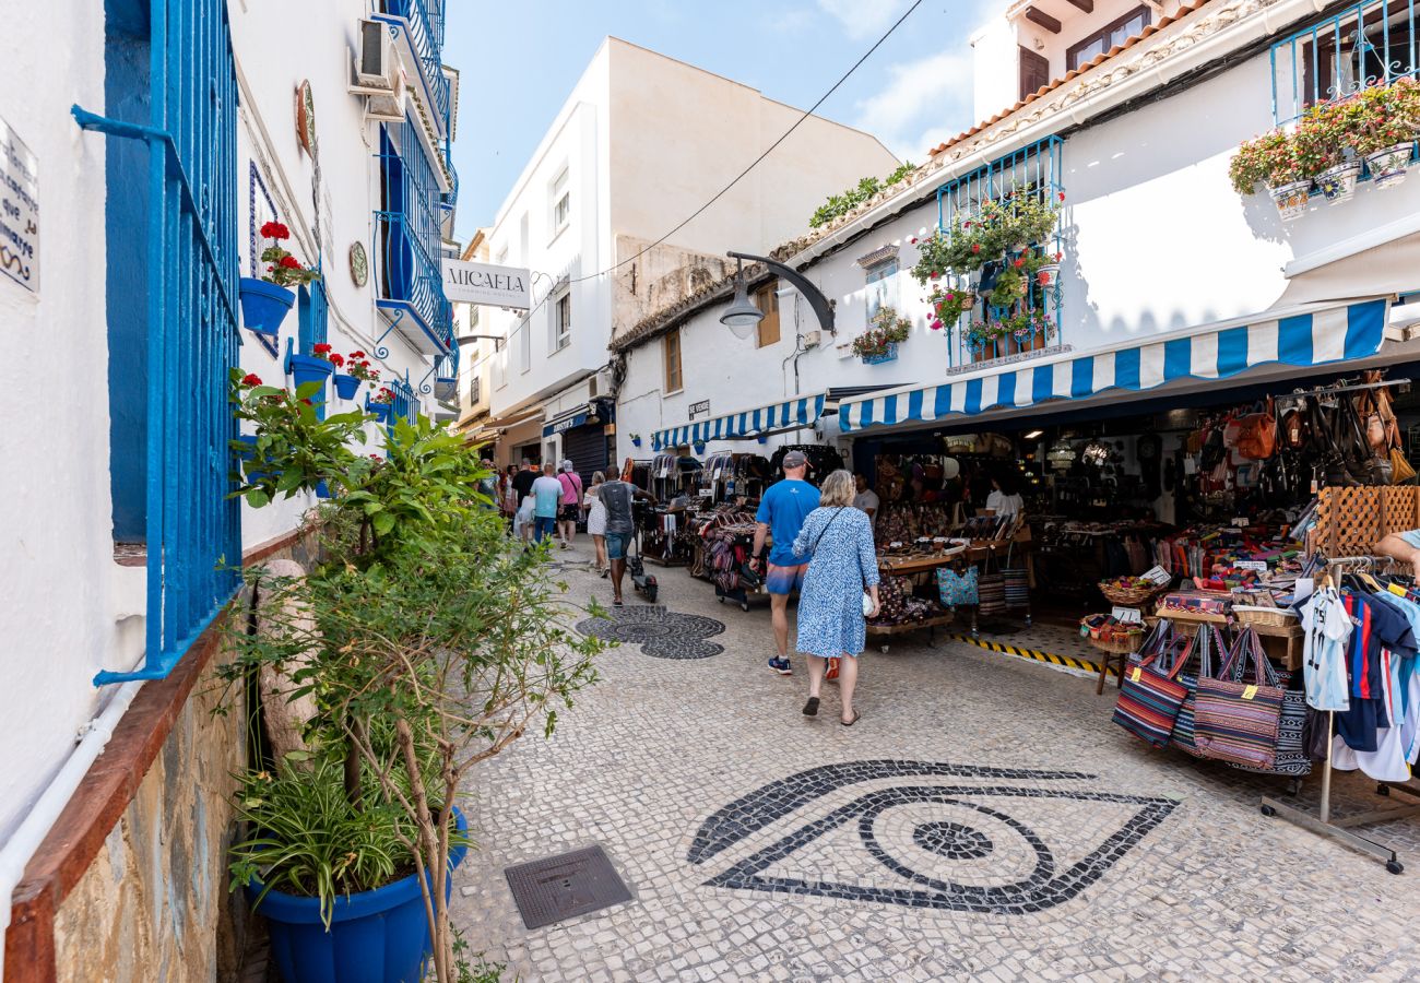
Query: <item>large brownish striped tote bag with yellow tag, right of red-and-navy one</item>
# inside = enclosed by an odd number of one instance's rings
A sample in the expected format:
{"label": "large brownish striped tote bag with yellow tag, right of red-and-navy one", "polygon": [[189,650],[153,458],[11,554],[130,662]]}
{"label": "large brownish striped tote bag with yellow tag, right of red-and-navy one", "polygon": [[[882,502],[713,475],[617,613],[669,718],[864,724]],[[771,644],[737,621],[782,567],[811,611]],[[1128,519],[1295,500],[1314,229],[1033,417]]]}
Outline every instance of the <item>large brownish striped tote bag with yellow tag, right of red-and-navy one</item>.
{"label": "large brownish striped tote bag with yellow tag, right of red-and-navy one", "polygon": [[[1233,679],[1200,679],[1194,705],[1194,742],[1204,757],[1271,770],[1287,692],[1275,685],[1257,632],[1244,628],[1234,651]],[[1252,659],[1252,683],[1242,682]],[[1269,685],[1269,682],[1272,685]]]}

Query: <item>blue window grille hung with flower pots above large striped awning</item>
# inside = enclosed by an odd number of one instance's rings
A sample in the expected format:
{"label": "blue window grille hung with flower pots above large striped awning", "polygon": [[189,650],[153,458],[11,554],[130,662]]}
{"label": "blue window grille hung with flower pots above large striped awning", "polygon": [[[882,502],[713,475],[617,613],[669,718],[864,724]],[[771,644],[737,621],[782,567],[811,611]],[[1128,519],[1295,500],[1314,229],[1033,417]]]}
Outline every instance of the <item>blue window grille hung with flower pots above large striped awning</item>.
{"label": "blue window grille hung with flower pots above large striped awning", "polygon": [[[1044,195],[1049,196],[1049,200],[1056,200],[1064,193],[1061,185],[1062,146],[1064,141],[1059,136],[1047,136],[947,182],[937,189],[937,229],[951,229],[957,217],[976,214],[984,202],[1004,200],[1012,192]],[[1059,223],[1056,223],[1055,234],[1051,239],[1051,241],[1028,243],[1028,246],[1047,254],[1058,254],[1062,240]],[[974,288],[978,286],[978,276],[981,274],[951,274],[950,283],[943,286]],[[1021,338],[1005,337],[983,345],[973,345],[968,341],[973,318],[985,315],[988,320],[997,320],[1012,313],[1011,308],[987,305],[981,300],[977,301],[974,313],[961,315],[958,324],[946,325],[949,366],[971,365],[1008,355],[1027,355],[1044,349],[1049,342],[1056,345],[1062,342],[1059,277],[1054,277],[1048,287],[1041,287],[1038,283],[1028,284],[1025,297],[1017,305],[1032,314],[1037,324],[1034,331]]]}

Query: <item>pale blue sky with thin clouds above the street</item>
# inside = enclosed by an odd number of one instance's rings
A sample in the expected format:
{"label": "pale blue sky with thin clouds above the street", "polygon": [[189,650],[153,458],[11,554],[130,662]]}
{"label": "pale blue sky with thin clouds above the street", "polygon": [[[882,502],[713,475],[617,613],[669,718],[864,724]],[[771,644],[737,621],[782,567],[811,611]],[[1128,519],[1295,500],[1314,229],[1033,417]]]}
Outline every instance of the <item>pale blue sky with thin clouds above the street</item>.
{"label": "pale blue sky with thin clouds above the street", "polygon": [[[1003,0],[922,0],[819,108],[899,158],[968,128],[970,34]],[[912,0],[453,0],[444,63],[459,68],[457,233],[490,224],[608,34],[807,109]],[[882,175],[879,175],[882,176]],[[689,214],[700,202],[687,202]],[[674,224],[670,222],[670,224]]]}

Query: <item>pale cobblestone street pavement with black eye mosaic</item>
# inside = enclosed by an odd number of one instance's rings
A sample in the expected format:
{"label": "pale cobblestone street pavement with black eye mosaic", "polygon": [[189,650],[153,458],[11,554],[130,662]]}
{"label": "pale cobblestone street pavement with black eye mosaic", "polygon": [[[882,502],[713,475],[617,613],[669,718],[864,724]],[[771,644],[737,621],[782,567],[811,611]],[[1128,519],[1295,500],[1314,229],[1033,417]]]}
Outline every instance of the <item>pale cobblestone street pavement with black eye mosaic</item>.
{"label": "pale cobblestone street pavement with black eye mosaic", "polygon": [[[564,572],[571,601],[609,601]],[[655,572],[665,611],[625,617],[554,737],[471,777],[480,847],[454,920],[510,976],[1420,977],[1414,825],[1372,828],[1410,865],[1389,875],[1262,817],[1281,780],[1150,751],[1109,722],[1112,688],[940,638],[869,649],[855,727],[832,685],[808,719],[802,659],[791,678],[764,665],[767,609]],[[1373,793],[1338,776],[1336,811]],[[527,930],[503,869],[591,844],[633,901]]]}

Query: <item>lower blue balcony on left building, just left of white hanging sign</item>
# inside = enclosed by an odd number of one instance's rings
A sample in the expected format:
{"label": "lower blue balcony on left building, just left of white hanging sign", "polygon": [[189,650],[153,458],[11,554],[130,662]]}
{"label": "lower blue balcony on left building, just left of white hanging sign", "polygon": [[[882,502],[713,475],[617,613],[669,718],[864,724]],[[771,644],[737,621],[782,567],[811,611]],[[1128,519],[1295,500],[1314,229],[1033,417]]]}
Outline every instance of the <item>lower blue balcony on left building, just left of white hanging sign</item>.
{"label": "lower blue balcony on left building, just left of white hanging sign", "polygon": [[439,263],[442,193],[412,121],[381,129],[379,162],[382,207],[375,223],[381,294],[408,303],[447,352],[453,348],[453,305],[444,297]]}

